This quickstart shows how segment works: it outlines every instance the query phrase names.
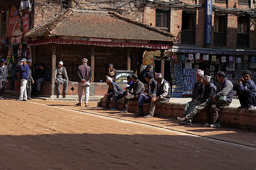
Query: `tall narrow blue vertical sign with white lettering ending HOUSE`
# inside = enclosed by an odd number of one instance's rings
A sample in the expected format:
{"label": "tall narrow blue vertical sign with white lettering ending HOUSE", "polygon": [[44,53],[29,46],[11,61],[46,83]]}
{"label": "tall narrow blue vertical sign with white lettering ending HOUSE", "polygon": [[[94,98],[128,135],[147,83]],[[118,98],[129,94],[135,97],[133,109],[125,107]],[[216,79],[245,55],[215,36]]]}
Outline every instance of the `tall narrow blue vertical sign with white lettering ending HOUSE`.
{"label": "tall narrow blue vertical sign with white lettering ending HOUSE", "polygon": [[205,44],[212,44],[212,0],[205,5]]}

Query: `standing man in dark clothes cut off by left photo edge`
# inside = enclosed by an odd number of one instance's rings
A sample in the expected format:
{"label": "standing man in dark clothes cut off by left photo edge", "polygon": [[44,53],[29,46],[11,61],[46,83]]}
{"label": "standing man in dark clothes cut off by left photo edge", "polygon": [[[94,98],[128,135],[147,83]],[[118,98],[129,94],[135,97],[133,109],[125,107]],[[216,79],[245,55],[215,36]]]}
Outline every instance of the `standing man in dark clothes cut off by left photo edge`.
{"label": "standing man in dark clothes cut off by left photo edge", "polygon": [[8,81],[8,70],[7,66],[5,65],[5,60],[1,59],[1,66],[0,66],[0,99],[3,100],[4,98],[4,91],[6,82]]}

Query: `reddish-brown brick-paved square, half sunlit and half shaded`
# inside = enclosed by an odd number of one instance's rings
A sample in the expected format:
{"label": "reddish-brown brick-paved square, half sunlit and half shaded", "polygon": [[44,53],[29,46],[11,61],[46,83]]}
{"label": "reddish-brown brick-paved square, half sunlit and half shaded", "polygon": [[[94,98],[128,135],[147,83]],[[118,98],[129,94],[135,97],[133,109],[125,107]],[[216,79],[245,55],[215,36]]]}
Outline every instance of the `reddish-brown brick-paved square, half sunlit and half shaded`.
{"label": "reddish-brown brick-paved square, half sunlit and half shaded", "polygon": [[[187,133],[187,127],[170,123],[175,126],[170,130],[159,123],[166,121],[135,120],[131,114],[102,111],[97,103],[87,108],[75,102],[7,99],[0,105],[0,169],[256,167],[255,132],[211,129],[207,134],[217,137],[204,138],[196,133],[203,128],[192,126],[198,129]],[[236,137],[225,142],[223,134]]]}

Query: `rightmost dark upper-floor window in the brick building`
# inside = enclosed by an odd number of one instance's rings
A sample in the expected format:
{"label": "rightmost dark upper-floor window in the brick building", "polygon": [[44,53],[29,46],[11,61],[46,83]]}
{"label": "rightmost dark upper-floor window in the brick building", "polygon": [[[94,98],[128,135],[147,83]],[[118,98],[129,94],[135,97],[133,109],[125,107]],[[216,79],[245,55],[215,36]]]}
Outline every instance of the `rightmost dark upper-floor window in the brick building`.
{"label": "rightmost dark upper-floor window in the brick building", "polygon": [[249,46],[250,18],[242,16],[237,18],[237,46]]}

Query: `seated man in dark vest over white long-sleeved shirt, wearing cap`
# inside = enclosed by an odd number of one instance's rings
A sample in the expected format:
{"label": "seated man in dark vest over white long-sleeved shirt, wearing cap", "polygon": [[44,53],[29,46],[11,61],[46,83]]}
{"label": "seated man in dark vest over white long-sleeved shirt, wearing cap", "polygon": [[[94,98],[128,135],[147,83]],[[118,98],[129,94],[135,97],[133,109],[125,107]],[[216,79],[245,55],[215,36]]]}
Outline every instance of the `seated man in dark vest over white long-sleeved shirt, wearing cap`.
{"label": "seated man in dark vest over white long-sleeved shirt, wearing cap", "polygon": [[171,97],[171,86],[169,82],[162,78],[161,73],[155,73],[155,79],[157,85],[154,89],[154,93],[151,96],[151,106],[149,114],[144,116],[144,118],[151,118],[154,116],[156,105],[164,105],[169,101]]}

